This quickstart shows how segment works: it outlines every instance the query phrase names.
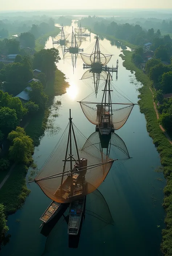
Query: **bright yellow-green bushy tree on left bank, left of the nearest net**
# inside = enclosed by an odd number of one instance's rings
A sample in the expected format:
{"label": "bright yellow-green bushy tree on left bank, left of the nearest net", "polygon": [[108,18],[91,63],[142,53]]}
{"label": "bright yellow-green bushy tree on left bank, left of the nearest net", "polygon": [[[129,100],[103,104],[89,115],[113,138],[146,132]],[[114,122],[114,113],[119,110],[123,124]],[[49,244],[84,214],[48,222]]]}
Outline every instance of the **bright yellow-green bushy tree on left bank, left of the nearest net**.
{"label": "bright yellow-green bushy tree on left bank, left of the nearest net", "polygon": [[28,163],[34,152],[33,140],[26,135],[21,127],[17,127],[16,131],[11,131],[8,139],[13,145],[9,147],[9,157],[15,162]]}

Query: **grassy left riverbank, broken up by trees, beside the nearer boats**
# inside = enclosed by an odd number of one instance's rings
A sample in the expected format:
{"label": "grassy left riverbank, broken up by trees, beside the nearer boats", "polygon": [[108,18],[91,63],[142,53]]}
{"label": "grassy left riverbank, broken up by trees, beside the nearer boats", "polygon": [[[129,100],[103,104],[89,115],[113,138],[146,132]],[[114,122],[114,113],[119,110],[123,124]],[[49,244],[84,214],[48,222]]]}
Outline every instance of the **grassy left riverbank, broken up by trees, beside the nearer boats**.
{"label": "grassy left riverbank, broken up by trees, beside the nearer boats", "polygon": [[[45,111],[38,113],[29,120],[26,127],[26,134],[29,135],[34,142],[34,146],[40,143],[40,136],[44,134],[48,117],[50,114],[50,104],[56,95],[61,95],[66,92],[68,83],[65,81],[65,75],[60,70],[56,70],[54,79],[49,82],[46,93],[51,99],[49,106]],[[11,172],[9,178],[4,183],[0,191],[0,202],[5,206],[7,215],[15,213],[25,202],[25,198],[29,195],[30,190],[26,186],[26,174],[29,166],[25,164],[17,164]]]}

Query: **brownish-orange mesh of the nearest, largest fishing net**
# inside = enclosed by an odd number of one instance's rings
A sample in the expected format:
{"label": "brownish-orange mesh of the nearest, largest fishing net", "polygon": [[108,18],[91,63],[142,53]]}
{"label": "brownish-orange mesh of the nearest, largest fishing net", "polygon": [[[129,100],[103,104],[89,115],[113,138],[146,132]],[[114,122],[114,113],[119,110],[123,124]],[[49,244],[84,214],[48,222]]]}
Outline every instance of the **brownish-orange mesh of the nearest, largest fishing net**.
{"label": "brownish-orange mesh of the nearest, largest fishing net", "polygon": [[[69,125],[68,125],[69,126]],[[74,126],[76,130],[76,127]],[[66,130],[67,131],[67,130]],[[74,167],[75,161],[72,162],[72,168],[70,162],[66,162],[64,168],[64,162],[66,154],[66,145],[68,134],[65,131],[65,135],[61,139],[60,143],[56,146],[49,159],[42,166],[41,171],[35,178],[36,183],[42,191],[52,200],[59,203],[69,203],[83,195],[90,194],[103,182],[108,174],[112,161],[105,154],[99,151],[91,142],[89,148],[79,149],[79,158],[84,158],[86,161],[83,163],[82,171],[81,168],[76,169]],[[76,133],[76,140],[81,143],[85,143],[86,139],[81,134]],[[74,145],[74,137],[71,138],[71,152],[74,159],[78,159],[77,150]],[[82,144],[82,145],[83,145]],[[69,157],[70,149],[68,148],[67,157]],[[75,168],[72,172],[69,172]],[[63,170],[65,174],[62,176]],[[68,171],[68,172],[67,172]],[[77,179],[74,179],[74,173],[79,174]],[[54,175],[54,176],[52,176]],[[49,177],[51,176],[51,177]],[[46,177],[46,179],[44,179]],[[49,177],[49,178],[47,178]],[[75,185],[73,185],[75,183]]]}

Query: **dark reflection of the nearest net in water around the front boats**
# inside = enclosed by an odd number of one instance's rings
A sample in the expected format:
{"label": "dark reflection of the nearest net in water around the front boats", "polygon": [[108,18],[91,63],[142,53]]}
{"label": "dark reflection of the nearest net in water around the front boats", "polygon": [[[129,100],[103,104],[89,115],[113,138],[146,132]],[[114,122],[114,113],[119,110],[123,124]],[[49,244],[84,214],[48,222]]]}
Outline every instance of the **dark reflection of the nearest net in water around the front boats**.
{"label": "dark reflection of the nearest net in water around the front boats", "polygon": [[[65,215],[68,214],[69,210],[65,212]],[[90,195],[87,195],[85,219],[81,229],[81,236],[85,237],[85,239],[80,236],[80,246],[77,249],[78,253],[83,253],[82,246],[86,246],[96,241],[97,236],[95,235],[95,232],[102,232],[105,235],[105,232],[107,232],[107,229],[105,230],[105,228],[109,227],[111,230],[111,228],[114,228],[113,223],[114,221],[110,209],[101,192],[95,190]],[[70,253],[70,255],[75,255],[76,252],[72,252],[68,247],[68,239],[67,223],[64,220],[64,217],[62,217],[54,226],[46,240],[44,255],[67,255],[68,253]],[[102,239],[104,239],[103,236]]]}

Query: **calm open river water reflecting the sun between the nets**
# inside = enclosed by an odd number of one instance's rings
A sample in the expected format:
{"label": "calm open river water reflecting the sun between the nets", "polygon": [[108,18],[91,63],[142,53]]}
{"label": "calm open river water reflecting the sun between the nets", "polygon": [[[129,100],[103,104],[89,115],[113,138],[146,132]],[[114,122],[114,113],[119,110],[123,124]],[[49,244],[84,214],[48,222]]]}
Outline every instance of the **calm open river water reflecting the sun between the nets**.
{"label": "calm open river water reflecting the sun between the nets", "polygon": [[[73,26],[77,25],[73,23]],[[65,27],[65,30],[70,32],[71,27]],[[81,47],[86,49],[95,40],[94,36],[91,33],[91,40],[88,38],[87,41],[82,42]],[[117,58],[119,59],[117,81],[114,75],[115,85],[136,103],[138,88],[141,85],[135,80],[134,74],[122,66],[123,61],[119,57],[122,49],[119,46],[118,48],[115,45],[112,46],[106,39],[100,42],[108,52],[114,54],[108,65],[115,66]],[[46,48],[52,48],[52,46],[52,38],[49,38]],[[62,57],[61,49],[59,51]],[[54,130],[47,129],[40,140],[40,145],[35,148],[33,158],[38,168],[48,158],[61,137],[68,123],[69,108],[71,108],[73,122],[85,137],[88,138],[95,131],[95,126],[86,119],[77,103],[90,93],[90,87],[80,80],[86,71],[83,70],[82,65],[82,60],[78,58],[73,73],[71,59],[61,60],[57,64],[58,69],[65,73],[70,87],[66,94],[54,99],[60,100],[62,105],[58,110],[59,116],[51,115],[49,118]],[[147,133],[146,120],[140,113],[139,106],[134,107],[128,121],[117,131],[117,134],[126,143],[132,159],[111,168],[105,182],[99,187],[114,220],[113,225],[95,227],[96,219],[94,222],[94,218],[86,215],[78,248],[73,249],[68,247],[67,224],[61,218],[46,238],[40,234],[39,218],[51,200],[36,184],[31,183],[28,185],[31,193],[26,198],[24,206],[8,217],[11,238],[1,250],[2,256],[159,255],[161,229],[164,228],[164,210],[161,204],[165,181],[162,173],[154,171],[160,166],[160,159]],[[113,152],[111,154],[113,156]],[[157,178],[162,178],[163,181]],[[101,211],[99,214],[101,215]],[[16,219],[20,221],[16,222]]]}

